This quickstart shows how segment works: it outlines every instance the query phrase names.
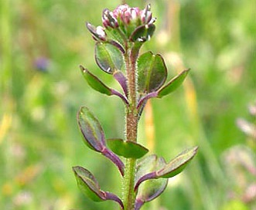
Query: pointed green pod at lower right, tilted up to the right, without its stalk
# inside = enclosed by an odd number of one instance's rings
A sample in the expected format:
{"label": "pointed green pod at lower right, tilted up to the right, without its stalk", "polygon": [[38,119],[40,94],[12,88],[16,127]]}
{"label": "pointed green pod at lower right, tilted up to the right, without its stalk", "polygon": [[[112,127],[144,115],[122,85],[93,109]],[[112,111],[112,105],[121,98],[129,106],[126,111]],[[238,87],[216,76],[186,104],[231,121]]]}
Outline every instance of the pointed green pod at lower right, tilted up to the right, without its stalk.
{"label": "pointed green pod at lower right, tilted up to the right, without its stalk", "polygon": [[179,174],[181,171],[186,168],[189,162],[196,155],[198,147],[193,147],[191,149],[187,149],[183,151],[181,154],[176,156],[176,158],[172,159],[166,166],[159,171],[156,171],[156,175],[159,178],[172,178]]}

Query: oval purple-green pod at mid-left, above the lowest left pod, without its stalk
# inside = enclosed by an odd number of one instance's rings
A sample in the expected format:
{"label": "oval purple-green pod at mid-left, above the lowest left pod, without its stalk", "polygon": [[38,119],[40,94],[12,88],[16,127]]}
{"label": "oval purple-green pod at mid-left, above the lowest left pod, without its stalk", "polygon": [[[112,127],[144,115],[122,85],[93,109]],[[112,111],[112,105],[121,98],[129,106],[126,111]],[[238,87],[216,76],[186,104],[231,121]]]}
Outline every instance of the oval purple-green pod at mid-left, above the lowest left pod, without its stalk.
{"label": "oval purple-green pod at mid-left, above the lowest left pod, without its stalk", "polygon": [[87,107],[81,107],[77,121],[84,136],[84,143],[94,151],[103,151],[105,147],[104,131],[100,122]]}

